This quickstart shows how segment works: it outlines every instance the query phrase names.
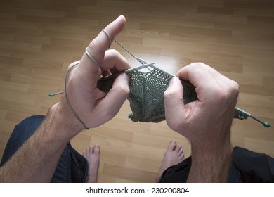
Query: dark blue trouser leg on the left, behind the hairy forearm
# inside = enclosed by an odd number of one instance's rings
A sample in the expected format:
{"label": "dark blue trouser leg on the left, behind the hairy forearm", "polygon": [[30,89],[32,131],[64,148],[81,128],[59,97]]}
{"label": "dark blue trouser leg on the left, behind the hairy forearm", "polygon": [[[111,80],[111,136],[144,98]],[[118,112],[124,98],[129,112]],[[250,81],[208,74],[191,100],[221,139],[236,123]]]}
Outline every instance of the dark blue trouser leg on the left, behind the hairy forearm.
{"label": "dark blue trouser leg on the left, behind the hairy forearm", "polygon": [[[34,115],[16,125],[6,145],[0,167],[34,134],[44,119],[44,115]],[[89,177],[89,165],[70,142],[65,147],[53,174],[51,182],[86,182]]]}

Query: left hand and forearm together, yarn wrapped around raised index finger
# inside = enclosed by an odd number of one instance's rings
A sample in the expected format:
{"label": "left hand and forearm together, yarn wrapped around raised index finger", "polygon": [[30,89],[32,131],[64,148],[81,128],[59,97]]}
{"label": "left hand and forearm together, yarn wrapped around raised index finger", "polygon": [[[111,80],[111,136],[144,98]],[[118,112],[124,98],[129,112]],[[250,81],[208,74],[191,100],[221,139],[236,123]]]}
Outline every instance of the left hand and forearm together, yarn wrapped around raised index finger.
{"label": "left hand and forearm together, yarn wrapped around raised index finger", "polygon": [[[111,39],[119,34],[124,23],[125,18],[120,16],[105,28]],[[89,44],[88,50],[101,68],[85,53],[67,77],[67,98],[86,127],[97,127],[110,120],[129,94],[129,77],[126,74],[117,77],[108,94],[96,87],[101,74],[130,68],[117,51],[106,51],[109,44],[108,37],[100,32]],[[62,98],[48,110],[37,131],[0,167],[0,182],[50,182],[67,142],[81,129],[84,129],[83,125]]]}

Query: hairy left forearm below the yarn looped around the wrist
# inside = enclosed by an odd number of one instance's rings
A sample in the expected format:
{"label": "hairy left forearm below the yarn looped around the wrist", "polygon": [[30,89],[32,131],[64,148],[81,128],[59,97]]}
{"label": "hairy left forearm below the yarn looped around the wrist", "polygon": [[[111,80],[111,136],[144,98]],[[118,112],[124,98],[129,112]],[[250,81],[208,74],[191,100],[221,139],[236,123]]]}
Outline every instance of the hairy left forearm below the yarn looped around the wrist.
{"label": "hairy left forearm below the yarn looped around the wrist", "polygon": [[37,131],[0,169],[0,182],[50,182],[60,155],[79,132],[78,122],[57,103]]}

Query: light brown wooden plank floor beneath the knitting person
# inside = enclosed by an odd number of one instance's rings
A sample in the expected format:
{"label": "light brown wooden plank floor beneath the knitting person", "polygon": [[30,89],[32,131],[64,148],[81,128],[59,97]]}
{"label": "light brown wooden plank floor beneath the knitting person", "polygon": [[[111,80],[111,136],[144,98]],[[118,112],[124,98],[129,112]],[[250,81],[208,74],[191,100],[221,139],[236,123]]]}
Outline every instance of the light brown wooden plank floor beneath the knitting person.
{"label": "light brown wooden plank floor beneath the knitting person", "polygon": [[[13,127],[60,99],[47,94],[63,90],[67,65],[121,14],[127,23],[117,39],[136,56],[172,73],[207,63],[240,84],[238,107],[274,124],[273,0],[1,0],[0,157]],[[190,155],[166,122],[134,123],[129,113],[126,102],[113,120],[72,140],[79,152],[100,145],[98,182],[154,182],[171,139]],[[273,127],[235,120],[232,141],[274,157]]]}

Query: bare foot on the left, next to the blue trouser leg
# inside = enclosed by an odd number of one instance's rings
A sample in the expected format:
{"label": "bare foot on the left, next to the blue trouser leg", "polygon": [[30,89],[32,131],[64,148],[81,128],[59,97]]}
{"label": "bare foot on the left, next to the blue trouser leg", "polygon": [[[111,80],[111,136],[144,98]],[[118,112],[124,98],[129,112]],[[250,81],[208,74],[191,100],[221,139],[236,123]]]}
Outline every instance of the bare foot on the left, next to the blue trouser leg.
{"label": "bare foot on the left, next to the blue trouser leg", "polygon": [[84,151],[83,156],[89,163],[88,183],[96,183],[100,163],[100,147],[98,145],[89,146],[89,148],[87,148],[86,151]]}

